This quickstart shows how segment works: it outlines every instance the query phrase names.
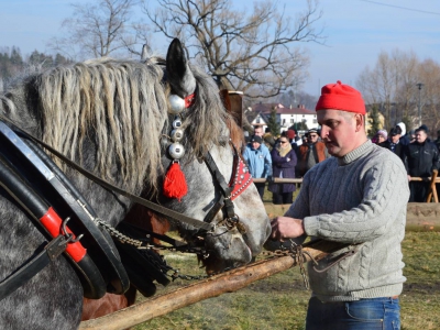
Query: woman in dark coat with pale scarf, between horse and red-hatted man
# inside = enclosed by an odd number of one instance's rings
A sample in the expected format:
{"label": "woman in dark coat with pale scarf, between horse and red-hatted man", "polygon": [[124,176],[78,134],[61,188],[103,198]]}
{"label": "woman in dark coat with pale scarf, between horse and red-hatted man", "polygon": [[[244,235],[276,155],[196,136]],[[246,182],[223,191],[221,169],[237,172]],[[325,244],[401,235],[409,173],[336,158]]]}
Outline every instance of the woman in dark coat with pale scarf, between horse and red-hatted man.
{"label": "woman in dark coat with pale scarf, between horse and red-hatted man", "polygon": [[[296,153],[292,148],[286,135],[279,138],[279,143],[271,152],[272,175],[280,178],[295,178]],[[273,193],[274,204],[292,204],[296,190],[295,184],[270,184],[268,190]]]}

